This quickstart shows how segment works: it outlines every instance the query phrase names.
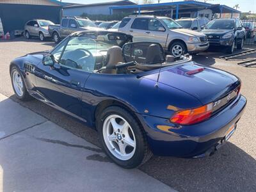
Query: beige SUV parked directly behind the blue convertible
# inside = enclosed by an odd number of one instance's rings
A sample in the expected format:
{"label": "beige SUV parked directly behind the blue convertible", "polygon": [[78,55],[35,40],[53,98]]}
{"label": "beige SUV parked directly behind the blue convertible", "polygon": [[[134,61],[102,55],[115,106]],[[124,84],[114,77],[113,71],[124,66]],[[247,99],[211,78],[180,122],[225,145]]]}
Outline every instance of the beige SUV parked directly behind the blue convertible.
{"label": "beige SUV parked directly behind the blue convertible", "polygon": [[118,31],[133,35],[134,42],[157,42],[173,56],[205,51],[209,47],[203,33],[184,29],[168,17],[131,15],[122,20]]}

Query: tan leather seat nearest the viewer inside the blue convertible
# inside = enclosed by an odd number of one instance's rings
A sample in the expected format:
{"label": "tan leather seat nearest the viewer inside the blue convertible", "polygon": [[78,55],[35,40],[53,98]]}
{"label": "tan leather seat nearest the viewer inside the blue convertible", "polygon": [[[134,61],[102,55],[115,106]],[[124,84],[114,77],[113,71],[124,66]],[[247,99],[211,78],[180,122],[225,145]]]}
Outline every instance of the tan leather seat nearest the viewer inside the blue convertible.
{"label": "tan leather seat nearest the viewer inside the blue convertible", "polygon": [[[107,52],[105,67],[108,67],[111,65],[117,65],[120,63],[124,63],[122,48],[118,47],[118,46],[113,46],[113,47],[109,48],[108,52]],[[105,69],[105,70],[102,70],[102,73],[116,74],[116,70],[115,69]]]}

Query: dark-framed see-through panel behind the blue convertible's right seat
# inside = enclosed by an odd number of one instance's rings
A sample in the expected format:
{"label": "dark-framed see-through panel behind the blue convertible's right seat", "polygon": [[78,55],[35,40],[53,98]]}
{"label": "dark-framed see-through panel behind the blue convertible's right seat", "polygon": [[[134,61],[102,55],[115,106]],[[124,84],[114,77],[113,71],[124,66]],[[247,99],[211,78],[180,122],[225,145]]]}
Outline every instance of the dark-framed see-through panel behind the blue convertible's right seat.
{"label": "dark-framed see-through panel behind the blue convertible's right seat", "polygon": [[126,63],[150,65],[164,62],[164,51],[160,44],[154,42],[133,42],[123,46],[123,56]]}

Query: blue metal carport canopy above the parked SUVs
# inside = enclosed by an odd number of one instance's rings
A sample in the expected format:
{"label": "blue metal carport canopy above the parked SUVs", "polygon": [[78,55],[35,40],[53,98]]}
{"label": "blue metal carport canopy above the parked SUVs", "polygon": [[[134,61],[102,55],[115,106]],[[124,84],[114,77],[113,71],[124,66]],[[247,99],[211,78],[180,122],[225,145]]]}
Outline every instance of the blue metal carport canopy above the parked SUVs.
{"label": "blue metal carport canopy above the parked SUVs", "polygon": [[[172,3],[154,3],[154,4],[134,4],[134,5],[127,5],[127,6],[111,6],[109,7],[109,12],[112,15],[113,10],[130,10],[130,11],[138,11],[140,12],[142,10],[166,10],[175,8],[176,12],[176,19],[179,17],[179,9],[186,10],[186,9],[202,9],[202,8],[211,8],[211,6],[214,6],[214,4],[211,3],[203,3],[198,1],[177,1]],[[230,13],[240,13],[239,11],[230,8],[226,5],[220,5],[216,4],[218,6],[220,13],[227,13],[228,11]]]}

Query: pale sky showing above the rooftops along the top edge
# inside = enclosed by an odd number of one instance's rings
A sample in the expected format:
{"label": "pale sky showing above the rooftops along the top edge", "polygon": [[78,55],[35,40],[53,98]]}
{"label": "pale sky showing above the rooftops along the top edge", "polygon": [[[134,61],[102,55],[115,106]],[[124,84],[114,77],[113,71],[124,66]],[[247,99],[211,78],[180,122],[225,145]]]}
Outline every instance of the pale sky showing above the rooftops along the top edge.
{"label": "pale sky showing above the rooftops along the top edge", "polygon": [[[88,3],[101,3],[101,2],[109,2],[109,1],[116,1],[116,0],[62,0],[63,2],[68,3],[82,3],[82,4],[88,4]],[[134,1],[134,0],[131,0]],[[173,1],[182,1],[182,0],[173,0]],[[138,2],[138,1],[134,1]],[[157,3],[157,0],[155,0]],[[172,2],[172,0],[161,0],[161,3],[165,2]],[[239,10],[241,12],[249,12],[252,11],[252,13],[256,13],[256,0],[210,0],[208,3],[212,4],[225,4],[227,6],[233,7],[235,4],[239,4]]]}

